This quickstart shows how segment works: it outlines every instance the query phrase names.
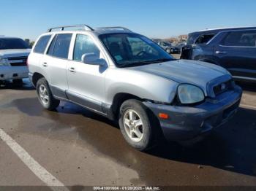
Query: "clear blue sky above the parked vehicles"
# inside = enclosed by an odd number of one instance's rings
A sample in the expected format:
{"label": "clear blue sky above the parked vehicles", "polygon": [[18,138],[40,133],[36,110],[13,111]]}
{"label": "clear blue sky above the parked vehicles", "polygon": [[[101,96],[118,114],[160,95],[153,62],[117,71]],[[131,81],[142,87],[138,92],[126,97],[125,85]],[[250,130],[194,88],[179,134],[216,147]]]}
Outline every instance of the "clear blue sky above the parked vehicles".
{"label": "clear blue sky above the parked vehicles", "polygon": [[255,0],[0,0],[0,35],[36,39],[51,26],[125,26],[165,38],[204,28],[256,26]]}

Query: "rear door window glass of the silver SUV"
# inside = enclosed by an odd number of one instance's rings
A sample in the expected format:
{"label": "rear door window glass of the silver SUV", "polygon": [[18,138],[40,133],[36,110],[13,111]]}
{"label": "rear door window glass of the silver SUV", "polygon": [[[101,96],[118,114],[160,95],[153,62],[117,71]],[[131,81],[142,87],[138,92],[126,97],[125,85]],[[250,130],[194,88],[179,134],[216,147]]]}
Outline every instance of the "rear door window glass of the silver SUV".
{"label": "rear door window glass of the silver SUV", "polygon": [[72,34],[58,34],[53,38],[48,49],[48,55],[53,55],[58,58],[68,58],[69,45]]}

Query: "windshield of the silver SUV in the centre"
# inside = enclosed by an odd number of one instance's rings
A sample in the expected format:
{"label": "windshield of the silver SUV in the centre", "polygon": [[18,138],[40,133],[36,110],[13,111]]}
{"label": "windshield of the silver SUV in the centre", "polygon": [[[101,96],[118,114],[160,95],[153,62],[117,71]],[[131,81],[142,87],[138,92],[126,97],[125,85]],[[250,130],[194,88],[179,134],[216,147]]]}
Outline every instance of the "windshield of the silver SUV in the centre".
{"label": "windshield of the silver SUV in the centre", "polygon": [[118,67],[175,60],[155,42],[139,34],[102,34],[99,39]]}

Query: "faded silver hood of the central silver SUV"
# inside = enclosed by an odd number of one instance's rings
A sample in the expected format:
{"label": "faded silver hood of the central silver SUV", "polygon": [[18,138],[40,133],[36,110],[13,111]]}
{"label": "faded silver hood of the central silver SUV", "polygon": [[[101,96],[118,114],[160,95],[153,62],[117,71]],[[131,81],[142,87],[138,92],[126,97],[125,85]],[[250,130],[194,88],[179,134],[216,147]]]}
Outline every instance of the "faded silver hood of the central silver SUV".
{"label": "faded silver hood of the central silver SUV", "polygon": [[[206,90],[208,82],[229,74],[220,66],[201,61],[178,60],[165,63],[152,63],[128,69],[143,71],[160,77],[171,79],[178,83],[197,85]],[[231,78],[231,77],[230,77]]]}

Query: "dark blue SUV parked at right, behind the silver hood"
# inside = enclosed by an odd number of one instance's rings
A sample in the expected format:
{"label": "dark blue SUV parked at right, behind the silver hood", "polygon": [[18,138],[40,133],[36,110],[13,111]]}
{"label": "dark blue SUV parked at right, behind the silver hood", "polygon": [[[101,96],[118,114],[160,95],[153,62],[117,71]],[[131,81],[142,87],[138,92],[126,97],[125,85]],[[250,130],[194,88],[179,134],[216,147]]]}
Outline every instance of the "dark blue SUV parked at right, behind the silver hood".
{"label": "dark blue SUV parked at right, behind the silver hood", "polygon": [[230,71],[234,79],[256,82],[256,27],[191,33],[181,59],[214,63]]}

